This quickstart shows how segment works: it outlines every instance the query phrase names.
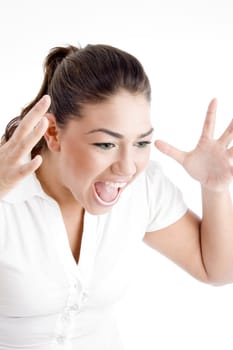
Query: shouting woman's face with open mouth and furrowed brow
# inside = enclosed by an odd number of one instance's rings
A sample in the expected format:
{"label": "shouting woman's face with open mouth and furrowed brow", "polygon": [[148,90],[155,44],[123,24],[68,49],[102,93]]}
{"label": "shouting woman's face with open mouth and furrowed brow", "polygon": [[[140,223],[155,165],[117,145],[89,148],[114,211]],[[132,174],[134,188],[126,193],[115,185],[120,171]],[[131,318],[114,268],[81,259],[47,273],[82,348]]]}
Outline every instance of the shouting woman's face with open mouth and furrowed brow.
{"label": "shouting woman's face with open mouth and furrowed brow", "polygon": [[59,129],[59,177],[88,212],[103,214],[145,168],[150,155],[150,105],[126,91],[86,105],[83,117]]}

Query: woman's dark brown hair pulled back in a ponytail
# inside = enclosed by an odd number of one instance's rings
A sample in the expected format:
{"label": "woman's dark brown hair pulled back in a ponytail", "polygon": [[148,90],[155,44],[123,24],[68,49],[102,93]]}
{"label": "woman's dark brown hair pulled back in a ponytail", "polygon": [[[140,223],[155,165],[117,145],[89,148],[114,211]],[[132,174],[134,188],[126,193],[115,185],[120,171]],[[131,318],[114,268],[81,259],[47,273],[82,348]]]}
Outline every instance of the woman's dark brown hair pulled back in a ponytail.
{"label": "woman's dark brown hair pulled back in a ponytail", "polygon": [[[38,95],[8,123],[3,141],[9,140],[20,120],[45,94],[51,97],[49,111],[63,127],[69,119],[82,117],[84,104],[102,102],[121,89],[151,99],[148,77],[131,54],[109,45],[55,47],[45,59],[44,80]],[[42,138],[33,148],[32,156],[45,146]]]}

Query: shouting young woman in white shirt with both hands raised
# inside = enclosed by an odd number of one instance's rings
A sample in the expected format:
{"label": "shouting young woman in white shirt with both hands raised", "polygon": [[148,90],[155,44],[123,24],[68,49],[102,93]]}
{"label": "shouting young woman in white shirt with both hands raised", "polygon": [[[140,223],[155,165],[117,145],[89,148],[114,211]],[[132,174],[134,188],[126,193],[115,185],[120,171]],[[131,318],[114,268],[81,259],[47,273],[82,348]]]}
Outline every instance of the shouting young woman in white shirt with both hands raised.
{"label": "shouting young woman in white shirt with both hands raised", "polygon": [[200,182],[203,217],[151,161],[151,89],[132,55],[58,47],[0,147],[0,349],[123,349],[113,306],[139,240],[200,281],[233,281],[233,123],[155,144]]}

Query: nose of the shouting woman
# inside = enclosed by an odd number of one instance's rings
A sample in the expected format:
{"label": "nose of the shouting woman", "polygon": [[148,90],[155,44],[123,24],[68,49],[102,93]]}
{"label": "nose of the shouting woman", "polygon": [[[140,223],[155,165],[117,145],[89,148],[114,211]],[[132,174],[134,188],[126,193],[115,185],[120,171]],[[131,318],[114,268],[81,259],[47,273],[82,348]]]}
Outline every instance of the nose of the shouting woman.
{"label": "nose of the shouting woman", "polygon": [[124,177],[133,176],[137,171],[137,167],[131,152],[122,152],[119,158],[112,164],[112,171],[114,174]]}

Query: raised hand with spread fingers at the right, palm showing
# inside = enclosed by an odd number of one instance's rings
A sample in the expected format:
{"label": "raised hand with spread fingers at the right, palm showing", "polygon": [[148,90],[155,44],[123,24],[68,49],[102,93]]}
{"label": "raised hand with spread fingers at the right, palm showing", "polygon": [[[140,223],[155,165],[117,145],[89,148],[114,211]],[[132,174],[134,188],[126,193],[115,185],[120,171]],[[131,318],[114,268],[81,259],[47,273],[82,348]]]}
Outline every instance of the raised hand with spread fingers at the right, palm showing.
{"label": "raised hand with spread fingers at the right, palm showing", "polygon": [[197,146],[190,152],[181,151],[164,141],[157,140],[156,147],[180,163],[201,185],[219,192],[229,188],[233,179],[233,120],[218,138],[214,139],[217,101],[208,107],[202,134]]}

